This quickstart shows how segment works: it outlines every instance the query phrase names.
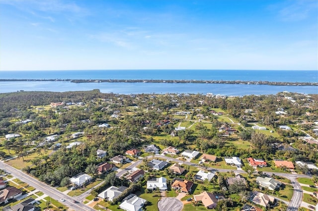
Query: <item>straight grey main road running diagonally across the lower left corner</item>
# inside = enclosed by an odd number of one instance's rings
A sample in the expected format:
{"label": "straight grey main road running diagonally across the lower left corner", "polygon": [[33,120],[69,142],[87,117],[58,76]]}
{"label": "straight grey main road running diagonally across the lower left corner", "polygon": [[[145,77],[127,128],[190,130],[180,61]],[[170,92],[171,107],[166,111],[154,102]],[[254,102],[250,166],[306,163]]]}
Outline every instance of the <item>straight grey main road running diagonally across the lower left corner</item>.
{"label": "straight grey main road running diagonally across the lower left corner", "polygon": [[[72,202],[73,198],[63,194],[62,192],[56,190],[48,186],[47,184],[38,181],[37,179],[29,176],[28,174],[15,169],[14,167],[7,165],[0,161],[0,168],[5,169],[6,171],[10,172],[12,176],[20,179],[23,182],[33,186],[34,188],[38,189],[39,191],[43,192],[44,194],[50,196],[51,198],[59,201],[61,204],[68,206],[69,208],[75,211],[95,211],[94,209],[84,205],[84,204],[75,204]],[[61,202],[60,199],[65,199],[64,202]]]}

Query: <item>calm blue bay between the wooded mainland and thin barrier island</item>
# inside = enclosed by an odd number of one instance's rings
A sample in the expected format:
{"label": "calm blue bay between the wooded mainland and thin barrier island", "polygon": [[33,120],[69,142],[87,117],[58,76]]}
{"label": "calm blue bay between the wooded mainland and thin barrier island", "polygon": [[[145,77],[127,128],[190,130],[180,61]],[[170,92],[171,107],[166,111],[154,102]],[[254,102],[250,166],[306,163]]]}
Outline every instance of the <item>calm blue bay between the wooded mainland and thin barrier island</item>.
{"label": "calm blue bay between the wooded mainland and thin barrier island", "polygon": [[99,89],[102,93],[214,93],[227,96],[270,95],[289,91],[318,94],[318,86],[270,86],[252,84],[205,84],[205,83],[72,83],[63,81],[6,81],[0,82],[0,92],[24,91],[87,91]]}

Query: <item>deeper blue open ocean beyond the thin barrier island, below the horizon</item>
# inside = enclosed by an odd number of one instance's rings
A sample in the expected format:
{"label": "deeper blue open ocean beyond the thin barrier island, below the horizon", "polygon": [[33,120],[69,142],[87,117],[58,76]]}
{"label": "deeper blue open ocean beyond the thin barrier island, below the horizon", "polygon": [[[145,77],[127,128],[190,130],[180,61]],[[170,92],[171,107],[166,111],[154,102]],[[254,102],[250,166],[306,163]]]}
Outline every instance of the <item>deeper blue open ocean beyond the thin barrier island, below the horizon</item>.
{"label": "deeper blue open ocean beyond the thin barrier island, below the horizon", "polygon": [[288,70],[59,70],[0,71],[0,79],[141,79],[318,82],[318,71]]}

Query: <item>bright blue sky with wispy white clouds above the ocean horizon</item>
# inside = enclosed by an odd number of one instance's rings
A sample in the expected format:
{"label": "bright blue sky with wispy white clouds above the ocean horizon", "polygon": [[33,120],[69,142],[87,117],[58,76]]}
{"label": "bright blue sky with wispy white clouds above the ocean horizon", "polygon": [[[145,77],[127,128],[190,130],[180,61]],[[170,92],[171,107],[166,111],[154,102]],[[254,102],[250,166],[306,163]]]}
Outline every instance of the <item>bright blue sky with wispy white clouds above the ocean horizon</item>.
{"label": "bright blue sky with wispy white clouds above the ocean horizon", "polygon": [[317,0],[0,0],[0,70],[318,70]]}

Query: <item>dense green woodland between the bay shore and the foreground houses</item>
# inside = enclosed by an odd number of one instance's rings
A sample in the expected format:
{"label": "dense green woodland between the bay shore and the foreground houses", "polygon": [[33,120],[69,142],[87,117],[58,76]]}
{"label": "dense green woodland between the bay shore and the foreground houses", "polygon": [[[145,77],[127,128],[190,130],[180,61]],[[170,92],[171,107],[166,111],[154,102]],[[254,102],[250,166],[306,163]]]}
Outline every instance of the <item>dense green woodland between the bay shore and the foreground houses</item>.
{"label": "dense green woodland between the bay shore and the foreground houses", "polygon": [[[51,102],[80,102],[81,105],[49,107]],[[46,108],[37,109],[41,106]],[[235,125],[236,135],[224,136],[224,132],[219,131],[226,122],[213,114],[214,109],[222,110],[224,116],[239,122]],[[288,115],[277,115],[277,110],[284,110]],[[111,117],[115,111],[119,113],[117,118]],[[185,131],[175,131],[178,123],[185,121],[175,115],[176,111],[189,111],[187,118],[195,120],[195,125]],[[198,114],[202,114],[205,120],[198,121]],[[95,175],[98,163],[128,149],[142,149],[151,143],[198,150],[218,157],[288,158],[318,162],[318,145],[299,139],[306,133],[317,138],[312,129],[318,119],[318,95],[278,93],[216,98],[202,94],[116,95],[100,93],[99,90],[17,92],[0,94],[0,119],[1,137],[9,133],[22,135],[9,140],[1,138],[0,157],[17,155],[24,160],[30,152],[36,152],[40,157],[32,159],[32,165],[23,170],[41,181],[58,186],[66,186],[69,178],[80,172]],[[16,123],[25,119],[32,122]],[[170,123],[163,124],[166,121]],[[111,127],[98,128],[97,125],[102,123]],[[278,135],[254,130],[252,123],[272,128]],[[281,130],[279,125],[290,125],[293,129]],[[79,131],[84,132],[83,144],[66,149],[72,139],[71,134]],[[171,133],[174,133],[173,136]],[[62,143],[62,148],[48,155],[46,152],[52,144],[41,146],[39,143],[44,137],[54,134],[59,135],[57,141]],[[252,148],[227,144],[235,140],[250,143]],[[296,151],[278,150],[273,147],[274,143],[292,143]],[[107,151],[108,155],[96,159],[97,149]],[[308,172],[308,169],[299,170]],[[312,173],[317,174],[315,171]]]}

